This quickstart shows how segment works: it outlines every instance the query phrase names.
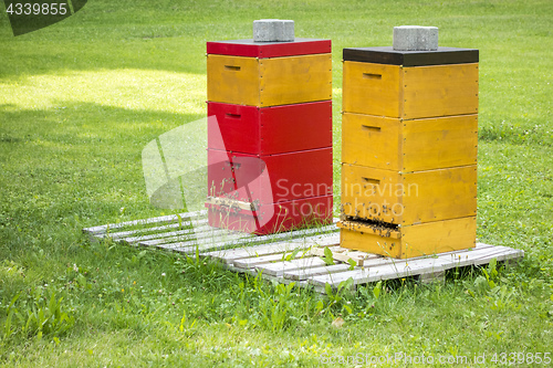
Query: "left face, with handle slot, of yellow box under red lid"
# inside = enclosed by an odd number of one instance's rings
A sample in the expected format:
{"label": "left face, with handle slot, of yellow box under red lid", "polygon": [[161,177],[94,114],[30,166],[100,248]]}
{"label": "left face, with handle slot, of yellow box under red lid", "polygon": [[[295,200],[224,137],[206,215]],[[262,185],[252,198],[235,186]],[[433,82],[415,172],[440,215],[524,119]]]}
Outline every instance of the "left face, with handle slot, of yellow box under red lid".
{"label": "left face, with handle slot, of yellow box under red lid", "polygon": [[254,57],[207,56],[208,101],[259,106],[259,63]]}

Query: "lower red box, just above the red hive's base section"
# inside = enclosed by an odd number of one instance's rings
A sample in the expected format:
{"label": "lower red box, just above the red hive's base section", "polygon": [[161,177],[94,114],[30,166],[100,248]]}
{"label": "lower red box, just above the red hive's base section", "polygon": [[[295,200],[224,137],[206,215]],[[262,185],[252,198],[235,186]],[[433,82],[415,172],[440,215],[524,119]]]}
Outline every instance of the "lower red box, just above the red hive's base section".
{"label": "lower red box, just above the red hive's base section", "polygon": [[209,194],[279,203],[332,194],[332,148],[271,156],[208,149]]}

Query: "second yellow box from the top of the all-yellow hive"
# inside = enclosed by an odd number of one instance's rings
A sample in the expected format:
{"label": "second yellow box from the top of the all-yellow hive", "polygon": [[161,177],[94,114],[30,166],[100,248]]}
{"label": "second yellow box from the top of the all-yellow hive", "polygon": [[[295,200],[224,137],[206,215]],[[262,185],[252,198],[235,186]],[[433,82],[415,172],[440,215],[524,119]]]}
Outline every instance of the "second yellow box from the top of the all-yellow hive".
{"label": "second yellow box from the top of the all-yellow hive", "polygon": [[474,165],[477,155],[478,115],[342,117],[342,162],[405,172]]}

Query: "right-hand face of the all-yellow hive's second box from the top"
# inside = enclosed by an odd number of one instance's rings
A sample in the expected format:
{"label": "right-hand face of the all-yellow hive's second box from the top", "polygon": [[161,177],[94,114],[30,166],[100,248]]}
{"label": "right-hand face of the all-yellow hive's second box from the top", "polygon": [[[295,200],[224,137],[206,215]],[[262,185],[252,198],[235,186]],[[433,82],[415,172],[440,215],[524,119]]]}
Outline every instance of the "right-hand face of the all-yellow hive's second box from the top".
{"label": "right-hand face of the all-yellow hive's second box from the top", "polygon": [[478,115],[404,120],[403,171],[477,164]]}

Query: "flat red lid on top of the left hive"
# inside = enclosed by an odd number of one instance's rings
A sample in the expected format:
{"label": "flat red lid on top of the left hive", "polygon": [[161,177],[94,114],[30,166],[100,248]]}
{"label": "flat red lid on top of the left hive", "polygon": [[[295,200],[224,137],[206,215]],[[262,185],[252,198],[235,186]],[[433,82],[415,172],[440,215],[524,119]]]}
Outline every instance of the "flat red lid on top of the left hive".
{"label": "flat red lid on top of the left hive", "polygon": [[295,39],[290,42],[253,42],[250,40],[211,41],[207,43],[208,54],[247,56],[247,57],[281,57],[325,54],[332,51],[331,40]]}

